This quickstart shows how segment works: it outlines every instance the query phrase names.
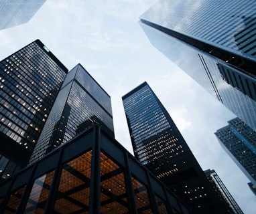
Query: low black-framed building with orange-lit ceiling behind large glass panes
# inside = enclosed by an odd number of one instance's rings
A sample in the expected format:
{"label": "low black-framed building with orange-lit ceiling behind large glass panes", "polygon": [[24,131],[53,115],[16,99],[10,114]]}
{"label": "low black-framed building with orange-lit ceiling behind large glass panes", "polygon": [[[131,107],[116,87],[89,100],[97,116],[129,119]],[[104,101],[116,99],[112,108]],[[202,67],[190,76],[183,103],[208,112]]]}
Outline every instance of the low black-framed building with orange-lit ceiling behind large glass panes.
{"label": "low black-framed building with orange-lit ceiling behind large glass panes", "polygon": [[194,213],[100,127],[0,185],[0,213]]}

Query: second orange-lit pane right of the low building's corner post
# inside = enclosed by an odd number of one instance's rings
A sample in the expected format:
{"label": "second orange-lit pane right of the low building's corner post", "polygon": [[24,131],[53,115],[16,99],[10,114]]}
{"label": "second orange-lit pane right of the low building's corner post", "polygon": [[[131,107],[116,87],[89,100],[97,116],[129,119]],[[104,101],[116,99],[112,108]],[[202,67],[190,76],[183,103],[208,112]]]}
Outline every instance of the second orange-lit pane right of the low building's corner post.
{"label": "second orange-lit pane right of the low building's corner post", "polygon": [[134,177],[131,177],[131,180],[133,182],[133,190],[135,193],[135,203],[137,206],[138,213],[139,214],[153,213],[149,203],[147,188]]}

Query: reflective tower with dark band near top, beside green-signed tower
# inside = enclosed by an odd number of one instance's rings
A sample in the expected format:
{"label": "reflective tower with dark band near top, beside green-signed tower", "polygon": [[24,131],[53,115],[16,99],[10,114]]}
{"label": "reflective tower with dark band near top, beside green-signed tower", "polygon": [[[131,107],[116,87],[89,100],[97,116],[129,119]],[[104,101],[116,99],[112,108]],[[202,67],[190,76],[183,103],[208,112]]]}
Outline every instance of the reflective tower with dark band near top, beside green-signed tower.
{"label": "reflective tower with dark band near top, beside green-signed tower", "polygon": [[111,98],[78,64],[64,80],[29,163],[94,124],[114,137]]}

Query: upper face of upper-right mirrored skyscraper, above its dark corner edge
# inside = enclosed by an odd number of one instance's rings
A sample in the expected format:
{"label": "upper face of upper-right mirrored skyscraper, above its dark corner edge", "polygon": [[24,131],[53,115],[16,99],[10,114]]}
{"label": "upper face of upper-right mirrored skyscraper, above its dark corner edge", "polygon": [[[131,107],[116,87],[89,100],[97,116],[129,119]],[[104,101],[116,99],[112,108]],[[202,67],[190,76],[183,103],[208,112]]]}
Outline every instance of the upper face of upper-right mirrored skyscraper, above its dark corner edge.
{"label": "upper face of upper-right mirrored skyscraper, above its dark corner edge", "polygon": [[253,0],[159,1],[141,17],[184,35],[256,59]]}

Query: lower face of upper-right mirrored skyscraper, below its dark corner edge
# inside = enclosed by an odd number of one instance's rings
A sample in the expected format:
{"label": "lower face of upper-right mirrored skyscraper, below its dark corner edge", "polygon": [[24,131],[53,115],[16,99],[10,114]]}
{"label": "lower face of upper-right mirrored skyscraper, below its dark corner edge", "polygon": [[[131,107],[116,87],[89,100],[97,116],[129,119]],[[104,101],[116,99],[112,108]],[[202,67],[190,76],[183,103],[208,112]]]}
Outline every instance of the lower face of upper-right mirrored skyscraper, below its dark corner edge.
{"label": "lower face of upper-right mirrored skyscraper, below its dark corner edge", "polygon": [[[202,54],[199,49],[194,49],[194,47],[190,47],[187,43],[178,41],[168,34],[155,31],[147,25],[142,25],[142,27],[157,49],[177,63],[186,74],[256,130],[256,89],[255,78],[253,77],[255,75],[252,74],[253,69],[243,73],[241,70],[230,66],[228,61],[223,62],[217,58],[212,58],[209,56],[210,51]],[[186,60],[180,60],[184,56],[186,56]],[[243,58],[237,58],[231,60],[237,61],[236,63],[243,61]],[[255,67],[253,61],[251,61],[251,66],[252,68]],[[227,73],[231,77],[227,78]],[[234,74],[235,76],[239,74],[237,76],[238,82],[231,81],[231,78],[234,78],[235,81]],[[243,76],[243,78],[240,80],[239,76]]]}

